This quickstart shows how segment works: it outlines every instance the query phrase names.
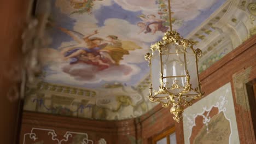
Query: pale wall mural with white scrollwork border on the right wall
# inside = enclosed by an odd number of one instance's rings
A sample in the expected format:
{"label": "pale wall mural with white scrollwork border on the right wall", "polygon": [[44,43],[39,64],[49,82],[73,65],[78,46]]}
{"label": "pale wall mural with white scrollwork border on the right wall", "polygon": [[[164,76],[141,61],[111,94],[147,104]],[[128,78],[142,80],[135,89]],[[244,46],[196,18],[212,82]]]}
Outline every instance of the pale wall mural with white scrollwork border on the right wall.
{"label": "pale wall mural with white scrollwork border on the right wall", "polygon": [[230,83],[184,111],[185,143],[240,143]]}

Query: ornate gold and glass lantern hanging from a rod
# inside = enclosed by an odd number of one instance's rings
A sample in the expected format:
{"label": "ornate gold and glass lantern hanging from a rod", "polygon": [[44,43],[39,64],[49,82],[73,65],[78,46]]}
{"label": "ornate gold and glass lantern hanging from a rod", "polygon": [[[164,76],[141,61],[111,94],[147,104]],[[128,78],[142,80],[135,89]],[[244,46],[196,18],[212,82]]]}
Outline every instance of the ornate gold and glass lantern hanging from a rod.
{"label": "ornate gold and glass lantern hanging from a rod", "polygon": [[173,119],[179,122],[183,118],[184,107],[203,96],[197,66],[202,51],[193,48],[193,41],[172,31],[170,0],[168,8],[171,31],[152,45],[152,53],[145,56],[151,77],[148,98],[165,108],[172,105],[170,112],[174,115]]}

